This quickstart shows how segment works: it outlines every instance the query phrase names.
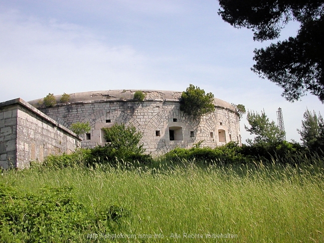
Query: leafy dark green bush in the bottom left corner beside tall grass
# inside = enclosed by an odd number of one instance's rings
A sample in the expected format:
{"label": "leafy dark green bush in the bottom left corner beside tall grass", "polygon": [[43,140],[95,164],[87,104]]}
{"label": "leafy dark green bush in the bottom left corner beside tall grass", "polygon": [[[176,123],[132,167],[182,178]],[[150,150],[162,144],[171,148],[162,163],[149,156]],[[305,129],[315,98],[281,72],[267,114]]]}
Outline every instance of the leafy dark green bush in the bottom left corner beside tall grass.
{"label": "leafy dark green bush in the bottom left corner beside tall grass", "polygon": [[80,203],[72,187],[44,187],[23,194],[0,184],[0,242],[82,242],[87,234],[113,233],[131,212],[118,205],[94,212]]}

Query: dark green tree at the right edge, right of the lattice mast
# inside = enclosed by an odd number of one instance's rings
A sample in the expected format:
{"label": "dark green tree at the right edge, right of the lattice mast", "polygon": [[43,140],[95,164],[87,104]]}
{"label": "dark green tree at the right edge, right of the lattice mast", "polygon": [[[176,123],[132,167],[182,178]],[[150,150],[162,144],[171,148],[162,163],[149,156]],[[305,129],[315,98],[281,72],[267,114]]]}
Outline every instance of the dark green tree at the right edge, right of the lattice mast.
{"label": "dark green tree at the right edge, right of the lattice mast", "polygon": [[301,135],[303,145],[308,147],[311,151],[324,151],[324,119],[316,114],[315,111],[310,112],[306,110],[304,113],[304,121],[302,121],[302,129],[298,130]]}

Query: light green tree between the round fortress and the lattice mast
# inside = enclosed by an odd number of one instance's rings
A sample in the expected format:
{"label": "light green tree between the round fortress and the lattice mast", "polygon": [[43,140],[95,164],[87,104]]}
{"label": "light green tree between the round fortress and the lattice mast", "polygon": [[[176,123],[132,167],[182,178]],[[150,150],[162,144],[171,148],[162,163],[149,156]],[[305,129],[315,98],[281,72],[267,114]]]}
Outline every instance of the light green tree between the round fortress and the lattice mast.
{"label": "light green tree between the round fortress and the lattice mast", "polygon": [[251,139],[246,140],[250,145],[258,143],[278,143],[285,134],[285,132],[281,131],[274,121],[269,121],[269,118],[264,111],[261,111],[261,115],[257,112],[248,111],[247,120],[250,127],[244,125],[245,129],[250,132],[250,134],[256,135],[253,141]]}

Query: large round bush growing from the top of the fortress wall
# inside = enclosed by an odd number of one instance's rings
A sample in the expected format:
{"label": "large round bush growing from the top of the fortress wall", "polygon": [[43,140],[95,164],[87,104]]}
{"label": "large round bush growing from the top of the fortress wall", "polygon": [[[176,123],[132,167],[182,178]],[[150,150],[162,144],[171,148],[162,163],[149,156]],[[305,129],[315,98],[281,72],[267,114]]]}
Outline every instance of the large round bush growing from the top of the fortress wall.
{"label": "large round bush growing from the top of the fortress wall", "polygon": [[214,95],[212,93],[205,94],[204,90],[190,84],[181,94],[180,111],[194,118],[200,118],[215,111],[213,102]]}

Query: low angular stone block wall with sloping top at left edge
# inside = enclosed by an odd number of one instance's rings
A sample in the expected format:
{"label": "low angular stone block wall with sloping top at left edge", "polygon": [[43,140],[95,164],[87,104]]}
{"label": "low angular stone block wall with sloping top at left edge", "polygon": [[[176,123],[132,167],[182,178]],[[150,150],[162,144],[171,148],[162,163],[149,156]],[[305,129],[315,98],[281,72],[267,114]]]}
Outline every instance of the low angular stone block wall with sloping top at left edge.
{"label": "low angular stone block wall with sloping top at left edge", "polygon": [[70,153],[81,138],[22,99],[0,103],[0,167],[26,168],[31,160]]}

